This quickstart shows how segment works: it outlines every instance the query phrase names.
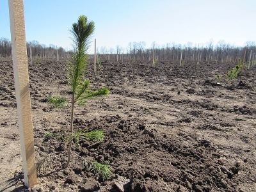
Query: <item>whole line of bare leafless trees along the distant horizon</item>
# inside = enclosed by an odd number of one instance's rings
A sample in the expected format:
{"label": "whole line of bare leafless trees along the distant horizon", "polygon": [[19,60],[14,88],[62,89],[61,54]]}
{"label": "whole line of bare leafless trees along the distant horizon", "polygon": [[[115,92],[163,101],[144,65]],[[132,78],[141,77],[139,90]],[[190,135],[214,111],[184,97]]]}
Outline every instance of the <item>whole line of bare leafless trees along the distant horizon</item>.
{"label": "whole line of bare leafless trees along the distant horizon", "polygon": [[[131,60],[152,60],[153,44],[150,48],[145,48],[145,42],[130,42],[127,47],[116,45],[114,48],[107,49],[106,46],[97,48],[97,55],[100,60],[111,61],[131,61]],[[39,44],[37,41],[27,42],[27,52],[30,56],[30,46],[32,56],[36,57],[38,54],[40,58],[56,58],[58,51],[58,58],[67,59],[72,50],[66,51],[62,47],[50,44],[49,46]],[[255,42],[246,42],[245,61],[256,60],[256,44]],[[182,52],[182,54],[181,54]],[[252,52],[252,54],[251,54]],[[12,44],[7,38],[0,38],[0,58],[11,57]],[[155,59],[161,61],[238,61],[243,58],[244,47],[235,46],[226,43],[224,40],[219,41],[216,45],[212,40],[206,44],[195,44],[188,42],[188,44],[181,45],[175,43],[167,43],[165,45],[155,44]]]}

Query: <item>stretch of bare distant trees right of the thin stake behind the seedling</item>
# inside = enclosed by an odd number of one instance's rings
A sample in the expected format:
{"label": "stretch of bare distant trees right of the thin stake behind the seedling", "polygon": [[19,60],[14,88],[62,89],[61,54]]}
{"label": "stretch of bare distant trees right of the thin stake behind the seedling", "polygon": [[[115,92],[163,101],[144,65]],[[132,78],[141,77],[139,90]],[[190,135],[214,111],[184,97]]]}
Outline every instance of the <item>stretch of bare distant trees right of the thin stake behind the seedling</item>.
{"label": "stretch of bare distant trees right of the thin stake behind the seedling", "polygon": [[[100,58],[106,60],[152,60],[153,44],[151,48],[145,48],[145,42],[130,42],[127,47],[123,48],[116,45],[115,49],[107,49],[106,46],[97,49]],[[251,55],[252,51],[252,55]],[[182,54],[181,54],[182,53]],[[212,40],[207,44],[181,45],[168,43],[166,45],[155,44],[155,59],[161,61],[238,61],[243,59],[244,47],[235,46],[225,43],[224,40],[219,41],[216,45]],[[255,42],[246,42],[245,61],[256,60],[256,44]]]}

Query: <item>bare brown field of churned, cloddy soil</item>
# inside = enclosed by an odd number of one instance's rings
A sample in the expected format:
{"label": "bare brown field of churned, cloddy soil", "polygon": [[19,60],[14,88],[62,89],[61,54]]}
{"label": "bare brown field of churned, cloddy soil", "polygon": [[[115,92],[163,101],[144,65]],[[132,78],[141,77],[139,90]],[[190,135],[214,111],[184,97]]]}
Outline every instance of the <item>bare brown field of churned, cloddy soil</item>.
{"label": "bare brown field of churned, cloddy soil", "polygon": [[[91,64],[92,88],[111,93],[76,106],[74,127],[102,129],[106,138],[74,146],[66,170],[67,145],[44,141],[45,132],[69,129],[70,106],[47,104],[48,95],[70,99],[66,62],[29,66],[36,161],[60,153],[38,173],[38,185],[26,189],[12,61],[1,60],[0,191],[256,191],[256,68],[244,68],[232,86],[212,84],[236,64],[103,61],[97,74]],[[113,177],[86,172],[81,157],[109,164]]]}

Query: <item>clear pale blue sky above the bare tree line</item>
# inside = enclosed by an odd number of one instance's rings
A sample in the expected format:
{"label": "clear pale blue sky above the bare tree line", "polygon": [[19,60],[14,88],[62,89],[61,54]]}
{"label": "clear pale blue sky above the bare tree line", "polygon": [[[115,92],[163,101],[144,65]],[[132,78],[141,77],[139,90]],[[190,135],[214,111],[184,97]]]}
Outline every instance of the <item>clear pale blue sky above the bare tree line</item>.
{"label": "clear pale blue sky above the bare tree line", "polygon": [[[24,0],[26,40],[71,48],[72,23],[79,15],[95,22],[97,47],[125,49],[129,42],[151,47],[220,40],[256,42],[255,0]],[[0,37],[11,39],[8,1],[1,1]],[[91,44],[91,50],[94,50]],[[93,51],[90,51],[93,52]]]}

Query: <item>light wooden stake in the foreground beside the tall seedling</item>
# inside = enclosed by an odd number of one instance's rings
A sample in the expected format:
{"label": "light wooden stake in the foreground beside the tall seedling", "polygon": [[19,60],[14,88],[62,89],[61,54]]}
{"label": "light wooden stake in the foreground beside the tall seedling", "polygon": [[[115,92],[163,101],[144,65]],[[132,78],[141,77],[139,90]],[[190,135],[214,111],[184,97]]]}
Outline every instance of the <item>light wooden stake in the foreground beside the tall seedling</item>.
{"label": "light wooden stake in the foreground beside the tall seedling", "polygon": [[24,182],[31,188],[37,181],[23,0],[9,0],[9,13]]}

